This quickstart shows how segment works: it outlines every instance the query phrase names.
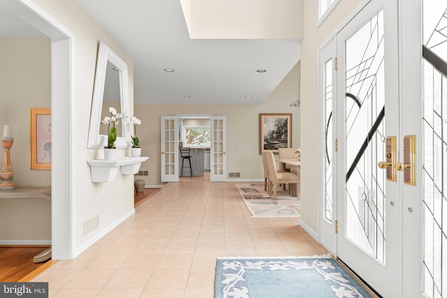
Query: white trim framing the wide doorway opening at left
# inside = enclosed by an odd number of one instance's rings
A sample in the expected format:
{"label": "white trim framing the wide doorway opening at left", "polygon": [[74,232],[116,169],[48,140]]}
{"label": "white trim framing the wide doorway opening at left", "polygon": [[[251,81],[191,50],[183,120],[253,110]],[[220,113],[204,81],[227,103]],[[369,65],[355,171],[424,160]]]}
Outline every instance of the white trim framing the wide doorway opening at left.
{"label": "white trim framing the wide doorway opening at left", "polygon": [[[52,198],[64,198],[52,202],[52,257],[72,258],[73,248],[73,152],[72,152],[72,98],[74,98],[75,34],[57,21],[32,0],[1,1],[0,5],[13,15],[51,38],[52,75],[51,107],[54,129],[52,135],[60,142],[54,143],[52,167]],[[59,61],[57,60],[59,59]],[[57,99],[56,99],[57,98]],[[68,131],[68,133],[67,133]]]}

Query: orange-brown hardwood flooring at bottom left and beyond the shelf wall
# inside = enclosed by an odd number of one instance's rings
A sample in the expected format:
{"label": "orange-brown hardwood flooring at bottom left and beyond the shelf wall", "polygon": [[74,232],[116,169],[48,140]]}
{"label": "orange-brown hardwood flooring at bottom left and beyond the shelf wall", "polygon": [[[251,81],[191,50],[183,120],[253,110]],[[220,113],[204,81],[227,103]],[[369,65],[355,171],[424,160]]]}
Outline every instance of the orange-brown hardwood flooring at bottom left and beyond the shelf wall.
{"label": "orange-brown hardwood flooring at bottom left and beyond the shelf wall", "polygon": [[[160,189],[145,188],[142,192],[135,192],[134,206],[137,207]],[[0,281],[27,281],[33,271],[47,265],[47,262],[35,263],[33,258],[48,247],[50,246],[0,246]]]}

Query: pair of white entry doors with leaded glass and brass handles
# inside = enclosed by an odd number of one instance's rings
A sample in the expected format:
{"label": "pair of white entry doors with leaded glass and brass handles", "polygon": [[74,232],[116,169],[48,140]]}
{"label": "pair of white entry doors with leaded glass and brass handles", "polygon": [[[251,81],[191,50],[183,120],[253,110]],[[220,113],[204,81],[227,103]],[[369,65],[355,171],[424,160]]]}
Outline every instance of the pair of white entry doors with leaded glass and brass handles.
{"label": "pair of white entry doors with leaded glass and brass handles", "polygon": [[376,4],[336,36],[336,254],[384,297],[447,297],[447,1]]}

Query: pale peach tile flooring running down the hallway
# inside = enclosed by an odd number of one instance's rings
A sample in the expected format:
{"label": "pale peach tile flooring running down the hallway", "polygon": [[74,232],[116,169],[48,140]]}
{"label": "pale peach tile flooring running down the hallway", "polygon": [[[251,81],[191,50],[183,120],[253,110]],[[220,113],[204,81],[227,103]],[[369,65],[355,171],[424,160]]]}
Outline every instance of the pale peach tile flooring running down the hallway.
{"label": "pale peach tile flooring running down the hallway", "polygon": [[214,297],[216,259],[328,253],[299,218],[252,218],[231,182],[184,177],[78,258],[33,281],[54,298]]}

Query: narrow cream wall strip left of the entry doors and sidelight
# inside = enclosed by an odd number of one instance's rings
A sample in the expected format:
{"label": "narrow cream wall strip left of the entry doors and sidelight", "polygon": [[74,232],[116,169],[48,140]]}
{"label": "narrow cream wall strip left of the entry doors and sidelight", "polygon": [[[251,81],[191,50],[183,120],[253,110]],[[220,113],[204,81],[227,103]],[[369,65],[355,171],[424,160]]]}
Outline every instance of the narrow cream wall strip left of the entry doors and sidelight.
{"label": "narrow cream wall strip left of the entry doors and sidelight", "polygon": [[302,221],[318,231],[318,46],[339,27],[361,0],[342,0],[316,27],[316,1],[307,0],[301,45],[301,209]]}

